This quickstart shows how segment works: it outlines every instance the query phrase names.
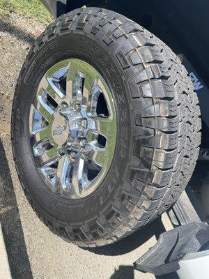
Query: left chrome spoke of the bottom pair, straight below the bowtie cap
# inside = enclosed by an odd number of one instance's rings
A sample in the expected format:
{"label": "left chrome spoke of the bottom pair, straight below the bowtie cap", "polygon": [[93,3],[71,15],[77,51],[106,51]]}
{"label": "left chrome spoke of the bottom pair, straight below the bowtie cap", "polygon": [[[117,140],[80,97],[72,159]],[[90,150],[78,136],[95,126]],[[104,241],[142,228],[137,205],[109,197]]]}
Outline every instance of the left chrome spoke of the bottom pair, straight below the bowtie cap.
{"label": "left chrome spoke of the bottom pair, straight below the bowtie cap", "polygon": [[68,190],[70,187],[70,156],[65,155],[59,159],[57,172],[56,172],[56,187],[57,190],[62,192]]}

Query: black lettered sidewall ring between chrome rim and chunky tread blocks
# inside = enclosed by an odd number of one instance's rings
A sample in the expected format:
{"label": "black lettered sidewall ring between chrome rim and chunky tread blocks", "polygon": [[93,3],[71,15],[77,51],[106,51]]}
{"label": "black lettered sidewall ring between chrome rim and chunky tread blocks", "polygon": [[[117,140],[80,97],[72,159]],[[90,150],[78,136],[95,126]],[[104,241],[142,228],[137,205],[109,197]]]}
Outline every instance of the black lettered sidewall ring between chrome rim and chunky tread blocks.
{"label": "black lettered sidewall ring between chrome rim and chunky tread blocks", "polygon": [[[124,82],[123,69],[116,57],[105,45],[99,44],[95,37],[66,33],[48,40],[40,49],[36,48],[37,45],[33,50],[35,54],[26,61],[17,85],[13,128],[17,169],[24,188],[33,197],[40,211],[47,213],[52,220],[59,219],[61,223],[84,223],[100,216],[102,211],[111,206],[125,183],[132,146],[130,90]],[[79,200],[58,197],[45,186],[36,169],[29,141],[29,112],[38,84],[55,63],[70,58],[82,59],[99,71],[111,91],[117,119],[116,149],[111,168],[100,187],[88,197]]]}

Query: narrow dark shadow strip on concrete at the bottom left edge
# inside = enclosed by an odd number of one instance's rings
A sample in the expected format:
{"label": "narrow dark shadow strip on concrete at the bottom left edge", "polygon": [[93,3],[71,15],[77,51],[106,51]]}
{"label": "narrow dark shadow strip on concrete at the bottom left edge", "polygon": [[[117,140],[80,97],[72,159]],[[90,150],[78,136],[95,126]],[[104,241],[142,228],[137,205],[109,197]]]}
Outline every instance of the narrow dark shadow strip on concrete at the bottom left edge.
{"label": "narrow dark shadow strip on concrete at the bottom left edge", "polygon": [[33,279],[8,160],[0,138],[0,220],[13,279]]}

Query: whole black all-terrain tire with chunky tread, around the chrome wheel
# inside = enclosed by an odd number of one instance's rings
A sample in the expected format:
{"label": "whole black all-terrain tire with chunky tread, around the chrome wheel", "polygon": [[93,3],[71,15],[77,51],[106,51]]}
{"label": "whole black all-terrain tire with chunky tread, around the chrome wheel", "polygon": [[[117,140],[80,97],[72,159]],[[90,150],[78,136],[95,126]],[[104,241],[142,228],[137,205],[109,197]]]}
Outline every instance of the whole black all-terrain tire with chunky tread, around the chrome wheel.
{"label": "whole black all-terrain tire with chunky tread, around the chrome wheel", "polygon": [[[98,69],[116,107],[116,149],[100,187],[80,200],[51,193],[29,142],[29,107],[56,61],[79,57]],[[176,202],[201,141],[199,103],[167,45],[139,24],[102,8],[72,10],[49,24],[17,81],[13,154],[24,193],[42,222],[77,246],[103,246],[144,227]],[[22,144],[24,143],[24,144]]]}

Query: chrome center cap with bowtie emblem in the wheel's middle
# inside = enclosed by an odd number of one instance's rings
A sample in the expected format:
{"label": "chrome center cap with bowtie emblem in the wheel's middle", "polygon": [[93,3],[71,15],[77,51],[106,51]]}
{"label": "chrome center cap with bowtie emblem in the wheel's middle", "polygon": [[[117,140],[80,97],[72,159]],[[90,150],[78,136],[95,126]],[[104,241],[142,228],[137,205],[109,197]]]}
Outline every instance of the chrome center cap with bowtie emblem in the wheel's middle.
{"label": "chrome center cap with bowtie emblem in the wheel's middle", "polygon": [[68,140],[68,136],[69,126],[67,121],[60,114],[54,114],[54,121],[52,123],[52,137],[54,142],[61,147]]}

